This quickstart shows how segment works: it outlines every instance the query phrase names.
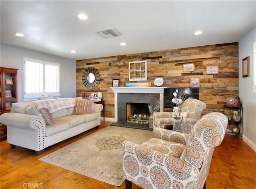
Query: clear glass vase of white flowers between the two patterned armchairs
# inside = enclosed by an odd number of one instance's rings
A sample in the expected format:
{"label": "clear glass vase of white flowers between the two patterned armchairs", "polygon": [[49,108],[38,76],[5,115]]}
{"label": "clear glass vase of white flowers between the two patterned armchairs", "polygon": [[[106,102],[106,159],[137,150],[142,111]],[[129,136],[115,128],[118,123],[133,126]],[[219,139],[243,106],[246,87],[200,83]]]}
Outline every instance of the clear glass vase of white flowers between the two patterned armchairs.
{"label": "clear glass vase of white flowers between the two patterned armchairs", "polygon": [[174,96],[174,98],[172,98],[172,103],[176,105],[172,110],[172,117],[174,118],[172,130],[181,132],[181,122],[183,118],[181,116],[181,109],[182,109],[184,100],[187,97],[187,94],[182,94],[182,92],[178,92],[178,89],[176,89],[176,92],[172,94]]}

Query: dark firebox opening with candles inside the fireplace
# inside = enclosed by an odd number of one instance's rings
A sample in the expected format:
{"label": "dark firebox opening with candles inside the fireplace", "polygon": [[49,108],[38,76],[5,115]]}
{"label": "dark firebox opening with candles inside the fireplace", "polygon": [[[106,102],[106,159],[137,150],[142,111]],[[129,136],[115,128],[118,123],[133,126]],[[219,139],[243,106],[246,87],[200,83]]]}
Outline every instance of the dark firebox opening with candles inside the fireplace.
{"label": "dark firebox opening with candles inside the fireplace", "polygon": [[126,103],[126,122],[148,124],[150,112],[147,103]]}

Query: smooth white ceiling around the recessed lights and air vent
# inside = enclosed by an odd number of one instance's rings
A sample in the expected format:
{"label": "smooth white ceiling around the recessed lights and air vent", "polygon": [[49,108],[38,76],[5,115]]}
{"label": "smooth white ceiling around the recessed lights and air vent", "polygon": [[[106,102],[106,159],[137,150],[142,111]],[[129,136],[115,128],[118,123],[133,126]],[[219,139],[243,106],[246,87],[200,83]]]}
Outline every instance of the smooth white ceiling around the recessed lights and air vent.
{"label": "smooth white ceiling around the recessed lights and air vent", "polygon": [[[1,43],[74,60],[238,42],[256,26],[255,0],[1,0],[0,7]],[[111,28],[121,36],[96,33]]]}

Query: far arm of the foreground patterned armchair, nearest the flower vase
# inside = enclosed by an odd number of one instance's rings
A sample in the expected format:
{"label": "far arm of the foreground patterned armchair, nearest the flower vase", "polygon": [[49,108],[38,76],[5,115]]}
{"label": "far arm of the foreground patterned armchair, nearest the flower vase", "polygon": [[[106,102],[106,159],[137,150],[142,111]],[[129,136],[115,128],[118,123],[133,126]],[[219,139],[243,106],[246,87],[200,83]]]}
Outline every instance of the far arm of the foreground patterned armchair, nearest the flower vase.
{"label": "far arm of the foreground patterned armchair, nearest the flower vase", "polygon": [[184,145],[187,145],[188,143],[188,134],[157,127],[154,128],[153,137]]}

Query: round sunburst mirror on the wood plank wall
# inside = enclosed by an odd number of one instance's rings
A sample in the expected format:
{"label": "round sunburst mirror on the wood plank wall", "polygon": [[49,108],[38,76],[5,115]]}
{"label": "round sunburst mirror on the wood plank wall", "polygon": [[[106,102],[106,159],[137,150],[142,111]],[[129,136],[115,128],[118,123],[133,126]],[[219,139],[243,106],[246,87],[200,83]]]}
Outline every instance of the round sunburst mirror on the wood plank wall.
{"label": "round sunburst mirror on the wood plank wall", "polygon": [[100,83],[100,74],[94,67],[87,68],[82,75],[82,82],[87,89],[95,89]]}

